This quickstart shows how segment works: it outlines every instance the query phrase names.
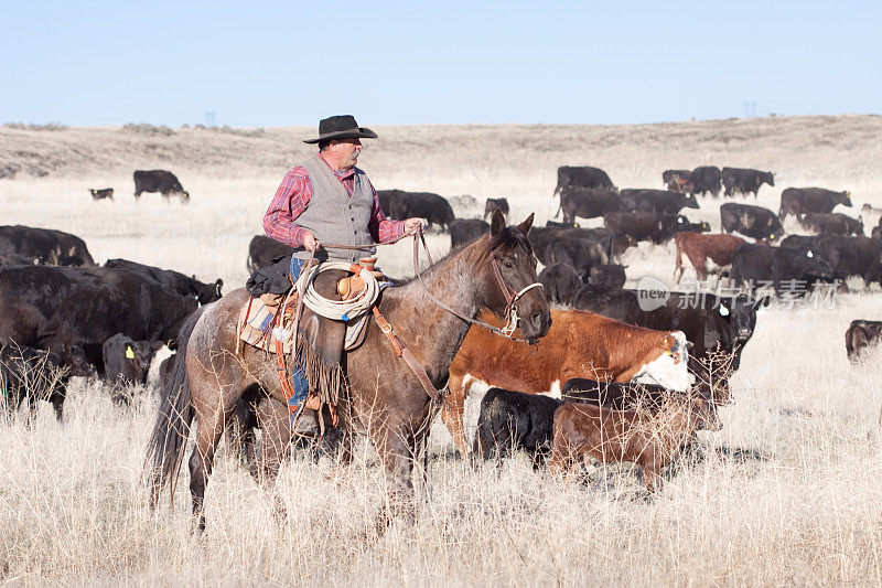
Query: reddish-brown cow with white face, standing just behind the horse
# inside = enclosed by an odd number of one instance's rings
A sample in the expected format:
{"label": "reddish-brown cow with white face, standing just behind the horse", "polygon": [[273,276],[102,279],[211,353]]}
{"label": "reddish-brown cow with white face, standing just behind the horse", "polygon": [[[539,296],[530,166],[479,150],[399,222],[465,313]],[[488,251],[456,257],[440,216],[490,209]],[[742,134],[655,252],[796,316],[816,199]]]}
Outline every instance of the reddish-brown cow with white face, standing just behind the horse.
{"label": "reddish-brown cow with white face, standing just behind the horse", "polygon": [[[498,324],[491,317],[484,320]],[[559,389],[573,377],[647,382],[684,392],[693,381],[688,348],[682,331],[654,331],[578,310],[552,309],[551,329],[534,346],[473,327],[450,365],[444,424],[465,456],[462,416],[473,379],[529,393]]]}

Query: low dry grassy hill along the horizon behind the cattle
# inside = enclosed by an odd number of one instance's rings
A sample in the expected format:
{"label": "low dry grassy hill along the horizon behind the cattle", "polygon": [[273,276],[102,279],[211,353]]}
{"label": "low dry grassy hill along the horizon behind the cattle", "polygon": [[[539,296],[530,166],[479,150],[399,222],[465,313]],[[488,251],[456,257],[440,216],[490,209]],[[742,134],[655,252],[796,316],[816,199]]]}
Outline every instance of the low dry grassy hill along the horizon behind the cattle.
{"label": "low dry grassy hill along the horizon behind the cattle", "polygon": [[[868,182],[880,174],[882,117],[845,115],[770,117],[635,126],[466,125],[373,126],[380,139],[365,141],[370,170],[459,168],[485,173],[551,174],[562,164],[600,165],[620,185],[656,168],[701,164],[798,171],[818,179]],[[50,130],[52,129],[52,130]],[[173,169],[217,177],[278,174],[314,152],[302,139],[314,128],[205,129],[127,125],[66,128],[0,126],[0,178],[82,178]],[[368,153],[366,153],[367,156]],[[827,171],[824,171],[827,170]],[[623,179],[622,179],[623,178]],[[624,181],[623,181],[624,180]],[[645,181],[645,180],[643,180]],[[553,188],[553,186],[552,186]]]}

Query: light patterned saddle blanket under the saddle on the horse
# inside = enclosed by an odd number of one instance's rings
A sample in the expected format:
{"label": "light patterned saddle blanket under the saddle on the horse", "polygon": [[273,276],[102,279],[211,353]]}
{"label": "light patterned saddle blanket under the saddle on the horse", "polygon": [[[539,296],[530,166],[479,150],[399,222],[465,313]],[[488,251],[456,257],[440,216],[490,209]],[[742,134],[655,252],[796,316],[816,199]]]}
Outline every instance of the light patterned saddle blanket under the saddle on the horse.
{"label": "light patterned saddle blanket under the saddle on the horse", "polygon": [[[237,332],[239,339],[257,349],[276,353],[276,340],[282,342],[282,350],[290,354],[293,344],[293,318],[297,303],[289,304],[282,327],[276,325],[276,316],[281,307],[268,307],[259,298],[252,298],[250,303],[246,303],[239,313]],[[352,351],[364,342],[366,335],[365,325],[369,312],[362,314],[346,322],[346,338],[343,349]]]}

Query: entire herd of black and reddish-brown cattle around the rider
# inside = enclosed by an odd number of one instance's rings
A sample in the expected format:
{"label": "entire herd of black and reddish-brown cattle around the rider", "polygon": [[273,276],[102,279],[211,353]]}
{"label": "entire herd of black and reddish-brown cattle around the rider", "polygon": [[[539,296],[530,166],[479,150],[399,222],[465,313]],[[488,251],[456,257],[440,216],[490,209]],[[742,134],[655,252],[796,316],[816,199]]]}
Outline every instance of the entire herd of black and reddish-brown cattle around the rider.
{"label": "entire herd of black and reddish-brown cattle around the rider", "polygon": [[[777,214],[725,202],[721,232],[712,233],[709,223],[684,212],[700,210],[704,199],[721,192],[756,199],[762,184],[775,185],[773,174],[704,165],[666,170],[662,178],[665,190],[619,189],[601,169],[559,168],[553,195],[562,220],[528,234],[544,265],[545,295],[556,304],[551,330],[536,348],[481,329],[469,332],[450,366],[443,406],[462,455],[501,460],[523,449],[537,468],[567,475],[578,473],[587,458],[632,461],[655,490],[662,468],[696,430],[720,427],[716,407],[730,400],[729,379],[756,329],[757,310],[773,296],[842,288],[853,276],[865,285],[882,284],[882,222],[865,236],[861,218],[833,213],[852,206],[847,191],[787,188]],[[133,179],[136,197],[159,192],[190,199],[171,172],[136,171]],[[111,188],[89,193],[96,200],[114,197]],[[509,211],[506,199],[488,199],[482,218],[456,218],[451,202],[439,194],[385,190],[378,197],[391,218],[419,216],[447,231],[451,248],[486,234],[488,214]],[[790,215],[813,234],[787,236],[783,221]],[[583,227],[580,218],[602,224]],[[718,284],[729,285],[729,295],[674,291],[658,303],[642,303],[641,290],[625,288],[628,275],[621,261],[630,248],[647,242],[674,243],[675,284],[691,268],[700,284],[716,275]],[[255,236],[247,268],[255,271],[290,252]],[[204,284],[126,259],[97,266],[75,235],[0,226],[6,410],[11,414],[26,400],[33,415],[43,398],[61,419],[72,376],[106,378],[114,399],[127,404],[132,384],[146,384],[155,352],[163,345],[174,350],[184,321],[218,300],[222,286],[219,279]],[[846,332],[848,357],[857,360],[881,334],[882,322],[854,320]],[[161,379],[172,361],[163,363]],[[474,379],[492,387],[469,445],[462,415]],[[556,389],[560,398],[537,394]],[[258,426],[251,407],[236,415],[245,429]]]}

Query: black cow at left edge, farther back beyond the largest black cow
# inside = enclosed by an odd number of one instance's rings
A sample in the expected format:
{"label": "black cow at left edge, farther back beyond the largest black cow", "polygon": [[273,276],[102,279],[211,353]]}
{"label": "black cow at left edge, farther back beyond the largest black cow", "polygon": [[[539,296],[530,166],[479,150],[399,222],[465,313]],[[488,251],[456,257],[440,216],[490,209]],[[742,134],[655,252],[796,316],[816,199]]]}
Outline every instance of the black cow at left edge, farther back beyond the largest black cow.
{"label": "black cow at left edge, farther back beyond the largest black cow", "polygon": [[17,254],[43,266],[95,265],[82,238],[53,228],[0,226],[0,253]]}

